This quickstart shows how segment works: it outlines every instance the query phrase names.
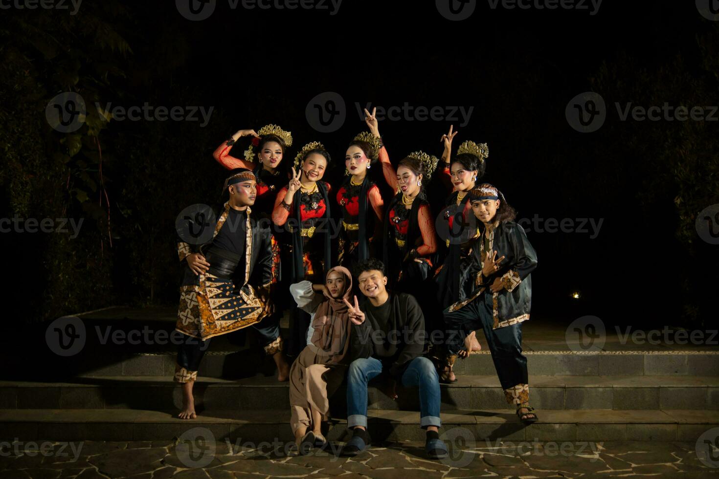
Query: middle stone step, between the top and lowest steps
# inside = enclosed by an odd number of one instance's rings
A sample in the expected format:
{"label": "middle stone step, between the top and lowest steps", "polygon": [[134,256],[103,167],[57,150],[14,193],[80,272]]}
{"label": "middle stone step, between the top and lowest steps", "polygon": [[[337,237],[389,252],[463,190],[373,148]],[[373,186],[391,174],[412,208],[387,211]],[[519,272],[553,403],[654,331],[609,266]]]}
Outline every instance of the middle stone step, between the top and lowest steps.
{"label": "middle stone step, between the top and lowest steps", "polygon": [[[718,376],[530,376],[531,404],[541,409],[719,409]],[[370,383],[371,384],[371,383]],[[207,410],[289,409],[288,383],[275,377],[239,381],[200,378],[196,407]],[[344,399],[342,386],[334,397]],[[416,390],[392,401],[370,386],[370,409],[417,411]],[[336,401],[332,404],[343,404]],[[170,376],[86,377],[68,382],[0,381],[5,409],[179,409],[182,396]],[[497,376],[458,376],[441,385],[443,411],[502,409]],[[333,411],[344,414],[333,406]]]}

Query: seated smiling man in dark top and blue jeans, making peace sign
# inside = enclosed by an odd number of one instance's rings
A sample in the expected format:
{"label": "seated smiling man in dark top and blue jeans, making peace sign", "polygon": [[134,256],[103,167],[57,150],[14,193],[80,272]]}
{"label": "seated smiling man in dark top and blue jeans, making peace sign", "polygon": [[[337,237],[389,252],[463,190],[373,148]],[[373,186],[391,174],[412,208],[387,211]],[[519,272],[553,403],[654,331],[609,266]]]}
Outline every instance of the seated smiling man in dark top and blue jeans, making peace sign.
{"label": "seated smiling man in dark top and blue jeans, making peace sign", "polygon": [[[355,271],[359,291],[367,297],[361,307],[347,302],[352,327],[353,346],[372,350],[369,357],[352,361],[347,373],[347,427],[352,438],[342,455],[354,456],[370,445],[367,433],[367,381],[386,373],[386,391],[396,399],[395,384],[419,386],[420,424],[426,429],[426,452],[430,459],[447,456],[446,446],[439,439],[439,378],[424,348],[424,317],[411,294],[393,293],[385,289],[385,265],[374,258],[357,264]],[[357,357],[355,356],[355,357]]]}

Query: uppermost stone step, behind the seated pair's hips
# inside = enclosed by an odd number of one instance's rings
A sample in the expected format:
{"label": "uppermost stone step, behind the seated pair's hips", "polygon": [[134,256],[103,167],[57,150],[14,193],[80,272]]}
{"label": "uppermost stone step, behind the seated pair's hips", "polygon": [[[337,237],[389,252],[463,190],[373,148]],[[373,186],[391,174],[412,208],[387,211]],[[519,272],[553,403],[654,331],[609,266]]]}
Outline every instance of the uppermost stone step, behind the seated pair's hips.
{"label": "uppermost stone step, behind the seated pair's hips", "polygon": [[[674,351],[621,351],[575,353],[572,351],[525,351],[529,376],[719,376],[719,353]],[[42,359],[42,361],[41,361]],[[44,367],[28,368],[24,358],[6,358],[6,378],[35,380],[78,376],[170,376],[175,371],[175,352],[135,353],[132,348],[83,351],[68,358],[38,350],[34,358]],[[53,368],[48,369],[47,364]],[[14,367],[13,367],[14,366]],[[13,372],[15,371],[15,372]],[[22,371],[19,372],[19,371]],[[247,378],[271,375],[275,364],[260,348],[237,351],[209,350],[199,376]],[[494,376],[495,366],[487,351],[457,360],[459,375]]]}

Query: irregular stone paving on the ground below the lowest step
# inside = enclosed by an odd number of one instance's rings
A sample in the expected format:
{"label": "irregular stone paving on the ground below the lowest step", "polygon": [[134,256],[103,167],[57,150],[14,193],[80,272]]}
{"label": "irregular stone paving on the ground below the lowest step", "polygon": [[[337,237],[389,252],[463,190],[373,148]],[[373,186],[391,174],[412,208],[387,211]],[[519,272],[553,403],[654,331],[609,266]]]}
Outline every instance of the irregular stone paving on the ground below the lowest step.
{"label": "irregular stone paving on the ground below the lowest step", "polygon": [[327,451],[285,454],[288,443],[7,442],[0,477],[12,478],[719,478],[719,454],[697,457],[689,442],[472,442],[448,437],[446,460],[423,457],[423,442],[374,445],[353,459]]}

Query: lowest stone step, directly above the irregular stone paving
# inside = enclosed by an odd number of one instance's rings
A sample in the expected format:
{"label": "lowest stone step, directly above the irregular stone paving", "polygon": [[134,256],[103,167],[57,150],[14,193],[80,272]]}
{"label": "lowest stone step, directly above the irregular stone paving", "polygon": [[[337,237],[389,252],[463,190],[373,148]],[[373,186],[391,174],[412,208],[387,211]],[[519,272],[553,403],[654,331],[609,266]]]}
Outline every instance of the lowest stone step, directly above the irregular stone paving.
{"label": "lowest stone step, directly above the irregular stone paving", "polygon": [[[290,441],[290,411],[221,411],[183,420],[168,411],[130,409],[0,409],[4,441],[160,441],[204,433],[206,440]],[[687,410],[538,410],[539,422],[525,426],[508,409],[466,410],[441,415],[441,433],[467,442],[508,441],[689,441],[719,425],[715,415]],[[372,440],[423,440],[412,411],[368,412]],[[209,429],[207,434],[203,429]],[[329,440],[343,440],[346,422],[330,427]],[[209,437],[208,437],[209,436]]]}

